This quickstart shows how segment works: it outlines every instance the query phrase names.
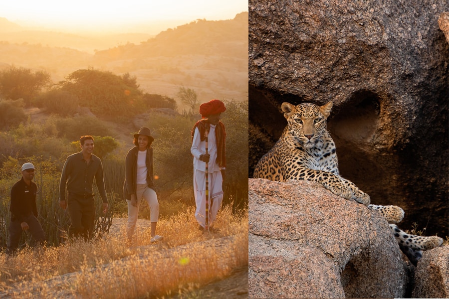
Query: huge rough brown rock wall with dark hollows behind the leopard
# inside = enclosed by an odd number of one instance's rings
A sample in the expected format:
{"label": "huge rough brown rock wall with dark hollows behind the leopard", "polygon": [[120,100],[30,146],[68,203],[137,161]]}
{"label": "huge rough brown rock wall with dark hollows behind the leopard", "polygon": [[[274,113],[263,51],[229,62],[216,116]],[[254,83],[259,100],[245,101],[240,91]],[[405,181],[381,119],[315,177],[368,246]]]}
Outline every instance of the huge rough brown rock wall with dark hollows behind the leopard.
{"label": "huge rough brown rock wall with dark hollows behind the leopard", "polygon": [[404,228],[449,235],[449,45],[438,23],[449,2],[248,7],[249,173],[286,125],[282,102],[332,100],[342,175],[373,203],[403,207]]}

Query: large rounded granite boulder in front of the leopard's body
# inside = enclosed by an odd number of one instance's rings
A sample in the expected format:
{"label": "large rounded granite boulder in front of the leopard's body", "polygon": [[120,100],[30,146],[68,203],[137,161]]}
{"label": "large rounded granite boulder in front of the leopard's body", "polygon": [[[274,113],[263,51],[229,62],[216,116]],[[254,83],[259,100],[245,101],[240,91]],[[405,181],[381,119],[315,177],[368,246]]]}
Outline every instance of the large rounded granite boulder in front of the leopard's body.
{"label": "large rounded granite boulder in front of the leopard's body", "polygon": [[309,181],[249,179],[249,298],[405,298],[385,219]]}

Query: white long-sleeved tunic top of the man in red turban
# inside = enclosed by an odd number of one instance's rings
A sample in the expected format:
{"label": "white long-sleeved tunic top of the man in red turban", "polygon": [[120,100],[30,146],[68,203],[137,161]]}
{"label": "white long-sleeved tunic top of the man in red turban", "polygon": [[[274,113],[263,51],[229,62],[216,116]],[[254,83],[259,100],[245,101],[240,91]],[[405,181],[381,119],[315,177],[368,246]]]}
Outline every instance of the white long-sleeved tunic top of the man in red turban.
{"label": "white long-sleeved tunic top of the man in red turban", "polygon": [[[211,125],[208,134],[208,153],[211,155],[209,159],[208,172],[219,171],[220,167],[217,164],[217,141],[215,139],[216,126]],[[206,141],[201,141],[200,131],[195,128],[194,138],[190,152],[194,156],[194,168],[201,171],[206,171],[206,163],[200,160],[200,155],[206,153]],[[225,168],[221,168],[225,169]]]}

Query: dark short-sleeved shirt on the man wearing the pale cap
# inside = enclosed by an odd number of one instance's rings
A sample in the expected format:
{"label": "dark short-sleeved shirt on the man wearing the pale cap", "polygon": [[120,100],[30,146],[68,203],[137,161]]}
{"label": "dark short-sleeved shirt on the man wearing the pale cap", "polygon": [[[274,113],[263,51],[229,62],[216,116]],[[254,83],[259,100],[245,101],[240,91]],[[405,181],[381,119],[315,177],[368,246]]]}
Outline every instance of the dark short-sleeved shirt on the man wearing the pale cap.
{"label": "dark short-sleeved shirt on the man wearing the pale cap", "polygon": [[12,186],[9,211],[14,221],[23,222],[31,213],[37,217],[36,190],[36,184],[31,182],[28,186],[23,177]]}

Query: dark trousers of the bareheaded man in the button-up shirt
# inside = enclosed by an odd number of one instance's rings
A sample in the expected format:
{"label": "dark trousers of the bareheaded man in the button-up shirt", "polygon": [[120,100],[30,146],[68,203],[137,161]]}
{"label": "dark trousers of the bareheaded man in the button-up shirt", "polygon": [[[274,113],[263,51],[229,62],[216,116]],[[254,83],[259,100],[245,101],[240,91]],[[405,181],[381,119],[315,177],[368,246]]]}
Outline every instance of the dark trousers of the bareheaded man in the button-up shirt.
{"label": "dark trousers of the bareheaded man in the button-up shirt", "polygon": [[67,209],[71,225],[69,237],[84,237],[89,240],[93,237],[95,226],[95,199],[92,195],[67,195]]}

